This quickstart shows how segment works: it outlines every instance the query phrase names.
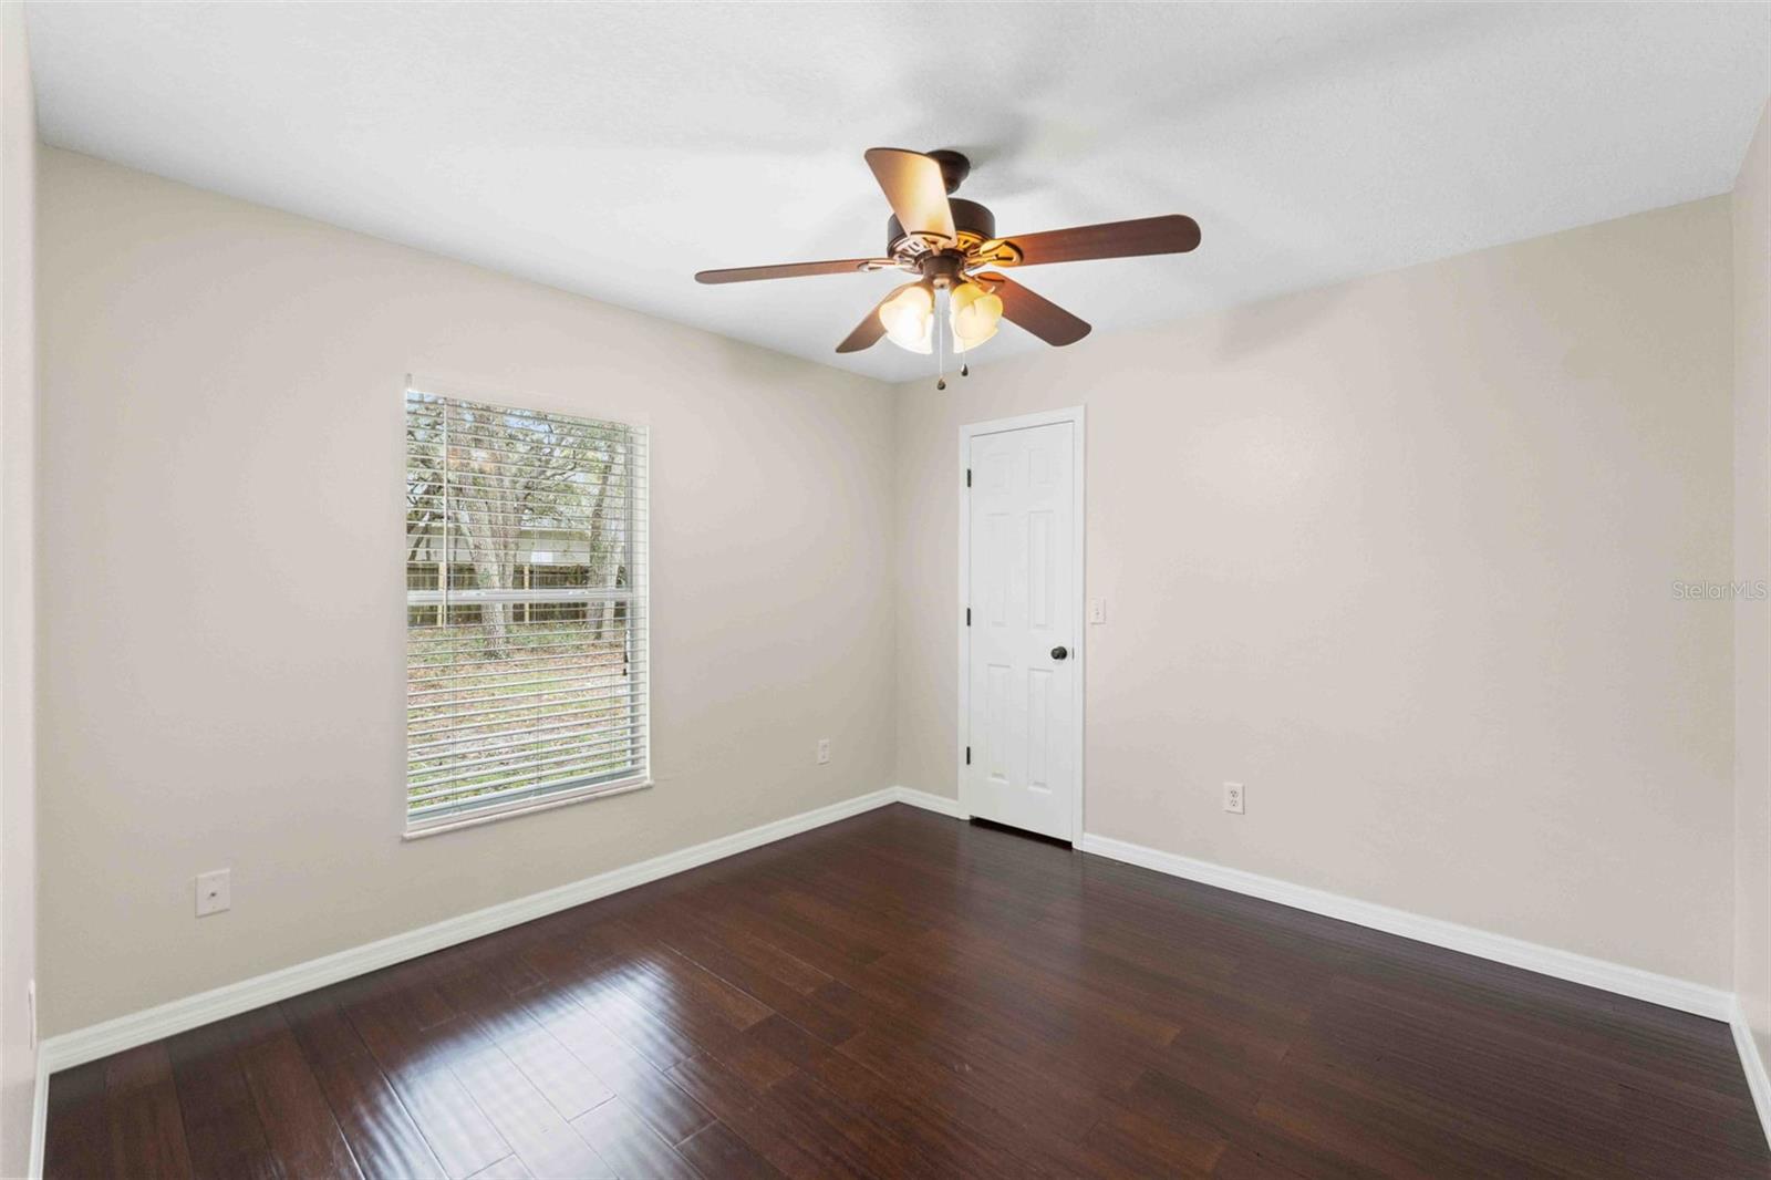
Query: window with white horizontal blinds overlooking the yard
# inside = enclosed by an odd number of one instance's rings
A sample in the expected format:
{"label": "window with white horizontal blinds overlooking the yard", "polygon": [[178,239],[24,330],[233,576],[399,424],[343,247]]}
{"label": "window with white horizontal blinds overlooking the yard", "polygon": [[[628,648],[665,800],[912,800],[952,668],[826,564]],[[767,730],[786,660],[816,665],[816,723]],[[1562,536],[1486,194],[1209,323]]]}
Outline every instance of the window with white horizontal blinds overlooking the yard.
{"label": "window with white horizontal blinds overlooking the yard", "polygon": [[413,833],[646,781],[646,434],[406,392]]}

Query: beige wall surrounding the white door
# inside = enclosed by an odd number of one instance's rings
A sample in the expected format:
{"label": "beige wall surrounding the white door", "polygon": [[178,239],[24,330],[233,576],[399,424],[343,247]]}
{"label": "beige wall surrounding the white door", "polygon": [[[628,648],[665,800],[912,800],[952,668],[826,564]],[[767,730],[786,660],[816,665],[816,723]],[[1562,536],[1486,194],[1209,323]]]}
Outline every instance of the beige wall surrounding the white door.
{"label": "beige wall surrounding the white door", "polygon": [[1728,985],[1728,301],[1713,198],[900,386],[898,781],[956,429],[1086,404],[1089,833]]}

